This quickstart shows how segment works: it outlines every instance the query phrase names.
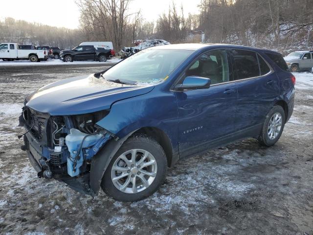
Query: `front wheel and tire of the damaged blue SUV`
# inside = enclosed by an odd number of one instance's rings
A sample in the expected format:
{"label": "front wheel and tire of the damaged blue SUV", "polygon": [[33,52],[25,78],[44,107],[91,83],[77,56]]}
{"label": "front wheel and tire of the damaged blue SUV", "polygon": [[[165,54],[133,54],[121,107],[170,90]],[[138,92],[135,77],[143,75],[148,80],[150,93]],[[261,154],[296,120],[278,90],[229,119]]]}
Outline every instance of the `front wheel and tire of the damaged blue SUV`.
{"label": "front wheel and tire of the damaged blue SUV", "polygon": [[117,201],[142,200],[161,186],[166,171],[167,159],[158,142],[145,135],[134,136],[112,158],[101,188]]}

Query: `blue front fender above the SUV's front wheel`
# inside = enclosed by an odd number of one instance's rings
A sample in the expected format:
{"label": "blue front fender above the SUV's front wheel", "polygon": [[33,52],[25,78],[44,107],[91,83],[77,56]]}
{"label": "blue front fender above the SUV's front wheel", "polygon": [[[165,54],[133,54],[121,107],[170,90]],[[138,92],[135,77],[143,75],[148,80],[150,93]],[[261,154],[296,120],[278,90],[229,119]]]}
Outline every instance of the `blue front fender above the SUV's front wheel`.
{"label": "blue front fender above the SUV's front wheel", "polygon": [[153,91],[118,101],[111,106],[110,113],[96,124],[118,138],[135,129],[156,127],[175,142],[178,135],[178,106],[175,94]]}

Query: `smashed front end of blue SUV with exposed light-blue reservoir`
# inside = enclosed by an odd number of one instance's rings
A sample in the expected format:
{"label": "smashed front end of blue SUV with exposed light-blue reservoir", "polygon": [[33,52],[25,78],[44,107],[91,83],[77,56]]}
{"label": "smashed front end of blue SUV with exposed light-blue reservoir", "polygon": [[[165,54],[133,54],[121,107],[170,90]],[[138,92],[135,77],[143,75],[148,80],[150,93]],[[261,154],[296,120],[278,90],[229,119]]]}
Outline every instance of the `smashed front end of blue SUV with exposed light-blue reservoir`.
{"label": "smashed front end of blue SUV with exposed light-blue reservoir", "polygon": [[92,195],[89,187],[92,158],[115,137],[96,124],[108,113],[109,110],[103,110],[82,115],[50,116],[25,106],[20,117],[20,126],[26,129],[21,148],[27,151],[38,177],[54,178]]}

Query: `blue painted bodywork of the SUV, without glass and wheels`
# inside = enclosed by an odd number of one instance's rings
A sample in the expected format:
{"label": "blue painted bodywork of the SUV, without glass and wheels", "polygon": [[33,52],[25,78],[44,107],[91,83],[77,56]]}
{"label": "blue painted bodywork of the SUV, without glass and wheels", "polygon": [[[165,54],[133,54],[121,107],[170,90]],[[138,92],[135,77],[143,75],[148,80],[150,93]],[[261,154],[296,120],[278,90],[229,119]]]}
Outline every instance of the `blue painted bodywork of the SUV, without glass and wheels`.
{"label": "blue painted bodywork of the SUV, without glass and wheels", "polygon": [[[162,83],[147,86],[121,85],[103,81],[102,78],[91,74],[49,84],[29,95],[25,106],[50,116],[65,116],[70,128],[73,125],[70,121],[72,115],[108,110],[108,114],[97,121],[96,125],[117,139],[128,137],[141,128],[156,128],[170,141],[171,153],[175,158],[173,163],[178,158],[224,143],[257,137],[268,111],[277,102],[286,103],[286,119],[291,117],[294,98],[291,73],[283,71],[272,62],[264,53],[269,51],[218,44],[171,45],[156,49],[166,48],[194,52]],[[270,65],[271,72],[235,81],[235,74],[232,74],[232,68],[229,67],[229,82],[211,85],[209,89],[174,89],[187,67],[202,53],[230,48],[248,49],[259,53]],[[30,134],[27,138],[31,138],[29,136]],[[89,156],[93,157],[102,145],[112,141],[108,135],[104,138],[106,139],[99,140],[99,146],[89,146],[88,150],[85,149],[85,154],[89,153]],[[49,152],[53,149],[38,146],[40,144],[36,144],[37,150],[43,151],[45,158],[49,159]],[[112,149],[115,149],[115,146],[112,146]],[[98,175],[101,176],[101,173]]]}

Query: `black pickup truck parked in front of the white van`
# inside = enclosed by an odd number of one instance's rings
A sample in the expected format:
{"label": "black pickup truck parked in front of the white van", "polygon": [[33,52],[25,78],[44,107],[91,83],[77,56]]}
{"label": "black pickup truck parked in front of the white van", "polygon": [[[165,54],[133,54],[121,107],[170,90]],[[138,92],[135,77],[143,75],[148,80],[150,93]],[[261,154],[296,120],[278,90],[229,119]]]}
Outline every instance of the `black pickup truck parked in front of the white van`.
{"label": "black pickup truck parked in front of the white van", "polygon": [[60,60],[64,62],[73,62],[74,60],[98,60],[106,62],[111,58],[111,50],[102,47],[78,46],[71,50],[62,50],[60,52]]}

